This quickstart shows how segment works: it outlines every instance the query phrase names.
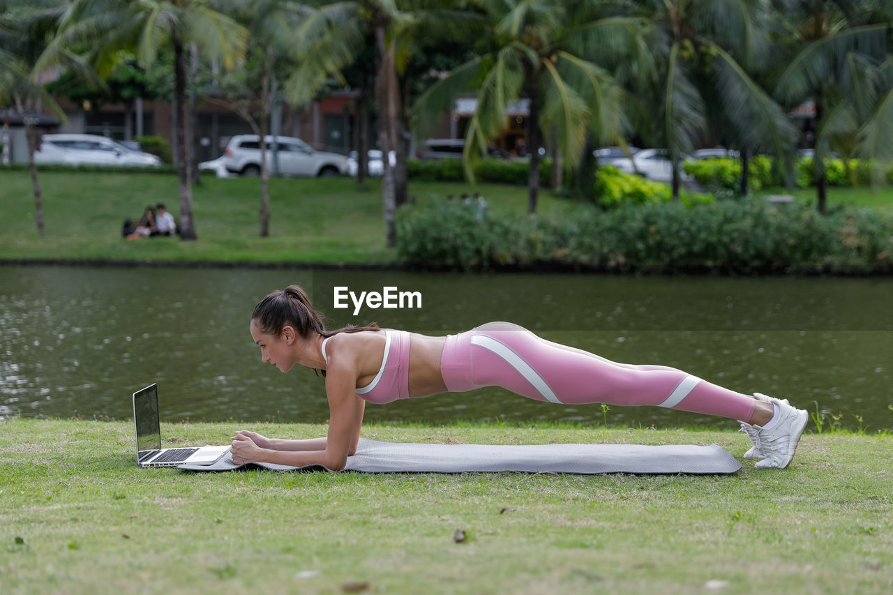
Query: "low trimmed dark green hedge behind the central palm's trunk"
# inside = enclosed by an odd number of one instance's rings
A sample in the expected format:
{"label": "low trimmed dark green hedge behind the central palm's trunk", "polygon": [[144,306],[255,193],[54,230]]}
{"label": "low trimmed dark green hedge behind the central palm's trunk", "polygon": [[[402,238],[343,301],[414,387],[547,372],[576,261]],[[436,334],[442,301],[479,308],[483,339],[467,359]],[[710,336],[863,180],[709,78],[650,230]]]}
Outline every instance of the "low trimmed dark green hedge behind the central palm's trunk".
{"label": "low trimmed dark green hedge behind the central palm's trunk", "polygon": [[[419,161],[409,159],[407,172],[410,180],[421,181],[465,181],[461,159],[436,159]],[[530,163],[526,161],[505,162],[500,159],[481,159],[474,167],[474,177],[478,181],[494,184],[515,184],[524,186],[529,179]],[[539,162],[539,185],[548,187],[552,179],[552,159]]]}

